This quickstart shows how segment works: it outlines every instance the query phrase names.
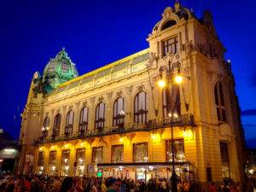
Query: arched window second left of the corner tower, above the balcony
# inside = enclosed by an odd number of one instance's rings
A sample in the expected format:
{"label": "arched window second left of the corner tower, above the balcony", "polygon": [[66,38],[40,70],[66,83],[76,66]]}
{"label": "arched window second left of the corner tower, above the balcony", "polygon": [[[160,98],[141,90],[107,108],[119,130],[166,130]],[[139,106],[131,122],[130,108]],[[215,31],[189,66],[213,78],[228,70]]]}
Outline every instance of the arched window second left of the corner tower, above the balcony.
{"label": "arched window second left of the corner tower, above the balcony", "polygon": [[113,126],[123,127],[125,124],[125,100],[119,97],[113,105]]}

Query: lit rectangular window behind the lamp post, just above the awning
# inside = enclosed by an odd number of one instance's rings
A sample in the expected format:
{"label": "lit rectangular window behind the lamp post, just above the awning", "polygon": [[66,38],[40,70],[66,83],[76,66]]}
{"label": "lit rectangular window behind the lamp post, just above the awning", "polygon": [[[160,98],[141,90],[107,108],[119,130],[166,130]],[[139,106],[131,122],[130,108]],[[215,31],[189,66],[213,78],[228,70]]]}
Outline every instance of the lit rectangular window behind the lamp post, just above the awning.
{"label": "lit rectangular window behind the lamp post, just above the awning", "polygon": [[[173,143],[175,162],[185,161],[183,139],[175,139]],[[166,140],[166,162],[172,162],[172,140]]]}

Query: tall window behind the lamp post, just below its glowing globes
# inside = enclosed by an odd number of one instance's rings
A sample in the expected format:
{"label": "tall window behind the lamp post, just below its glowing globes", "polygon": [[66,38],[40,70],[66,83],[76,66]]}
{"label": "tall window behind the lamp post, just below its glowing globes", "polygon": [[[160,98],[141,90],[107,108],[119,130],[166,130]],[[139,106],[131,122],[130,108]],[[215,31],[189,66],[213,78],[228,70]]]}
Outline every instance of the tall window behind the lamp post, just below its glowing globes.
{"label": "tall window behind the lamp post, just below its glowing globes", "polygon": [[[172,108],[172,110],[171,110]],[[163,89],[163,116],[171,117],[173,113],[173,117],[179,117],[180,112],[180,93],[179,93],[179,85],[172,85],[172,94],[170,92],[170,88]]]}

